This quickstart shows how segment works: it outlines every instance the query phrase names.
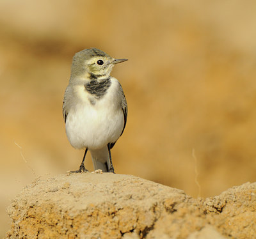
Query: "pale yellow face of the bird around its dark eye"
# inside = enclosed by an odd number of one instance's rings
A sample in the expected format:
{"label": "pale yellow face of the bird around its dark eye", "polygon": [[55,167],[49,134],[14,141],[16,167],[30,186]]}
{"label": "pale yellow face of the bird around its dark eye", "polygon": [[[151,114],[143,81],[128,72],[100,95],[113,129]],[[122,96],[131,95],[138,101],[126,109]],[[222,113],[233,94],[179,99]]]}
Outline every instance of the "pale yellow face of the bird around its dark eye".
{"label": "pale yellow face of the bird around its dark eye", "polygon": [[110,75],[115,59],[110,56],[93,56],[85,61],[89,73],[95,75]]}

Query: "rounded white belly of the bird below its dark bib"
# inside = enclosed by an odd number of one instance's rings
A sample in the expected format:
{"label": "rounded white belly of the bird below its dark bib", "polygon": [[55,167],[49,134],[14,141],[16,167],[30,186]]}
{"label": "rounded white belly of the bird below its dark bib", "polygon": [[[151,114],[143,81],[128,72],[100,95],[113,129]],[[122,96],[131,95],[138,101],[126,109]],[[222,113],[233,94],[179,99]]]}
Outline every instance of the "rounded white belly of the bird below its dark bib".
{"label": "rounded white belly of the bird below its dark bib", "polygon": [[68,112],[66,133],[74,148],[97,150],[114,143],[124,127],[124,113],[108,96],[97,100],[95,105],[86,98]]}

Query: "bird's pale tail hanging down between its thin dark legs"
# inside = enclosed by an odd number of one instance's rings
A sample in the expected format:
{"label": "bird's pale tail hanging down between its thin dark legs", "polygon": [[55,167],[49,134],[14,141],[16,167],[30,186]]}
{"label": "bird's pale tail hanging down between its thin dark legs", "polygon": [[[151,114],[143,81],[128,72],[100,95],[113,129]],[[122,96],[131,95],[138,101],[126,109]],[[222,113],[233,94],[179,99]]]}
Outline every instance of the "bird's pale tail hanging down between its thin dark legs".
{"label": "bird's pale tail hanging down between its thin dark legs", "polygon": [[108,172],[110,167],[108,146],[100,150],[90,150],[94,170],[101,169],[102,172]]}

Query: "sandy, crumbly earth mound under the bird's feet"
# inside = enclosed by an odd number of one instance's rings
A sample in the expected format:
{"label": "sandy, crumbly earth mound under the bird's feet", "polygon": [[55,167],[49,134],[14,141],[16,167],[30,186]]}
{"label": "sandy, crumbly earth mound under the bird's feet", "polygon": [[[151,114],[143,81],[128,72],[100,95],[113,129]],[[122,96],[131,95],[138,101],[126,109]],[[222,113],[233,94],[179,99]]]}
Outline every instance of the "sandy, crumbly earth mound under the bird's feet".
{"label": "sandy, crumbly earth mound under the bird's feet", "polygon": [[17,196],[7,238],[253,238],[256,183],[193,199],[122,174],[39,179]]}

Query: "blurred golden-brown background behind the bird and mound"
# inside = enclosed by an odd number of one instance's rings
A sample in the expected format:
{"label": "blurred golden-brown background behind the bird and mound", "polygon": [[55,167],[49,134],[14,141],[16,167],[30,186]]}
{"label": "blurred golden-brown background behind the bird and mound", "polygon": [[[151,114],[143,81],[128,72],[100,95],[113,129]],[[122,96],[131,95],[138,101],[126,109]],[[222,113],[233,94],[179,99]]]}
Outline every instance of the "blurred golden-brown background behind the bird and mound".
{"label": "blurred golden-brown background behind the bird and mound", "polygon": [[116,173],[193,197],[255,181],[255,9],[253,0],[1,0],[0,236],[22,187],[81,163],[62,101],[72,56],[90,47],[129,59],[111,74],[129,109]]}

